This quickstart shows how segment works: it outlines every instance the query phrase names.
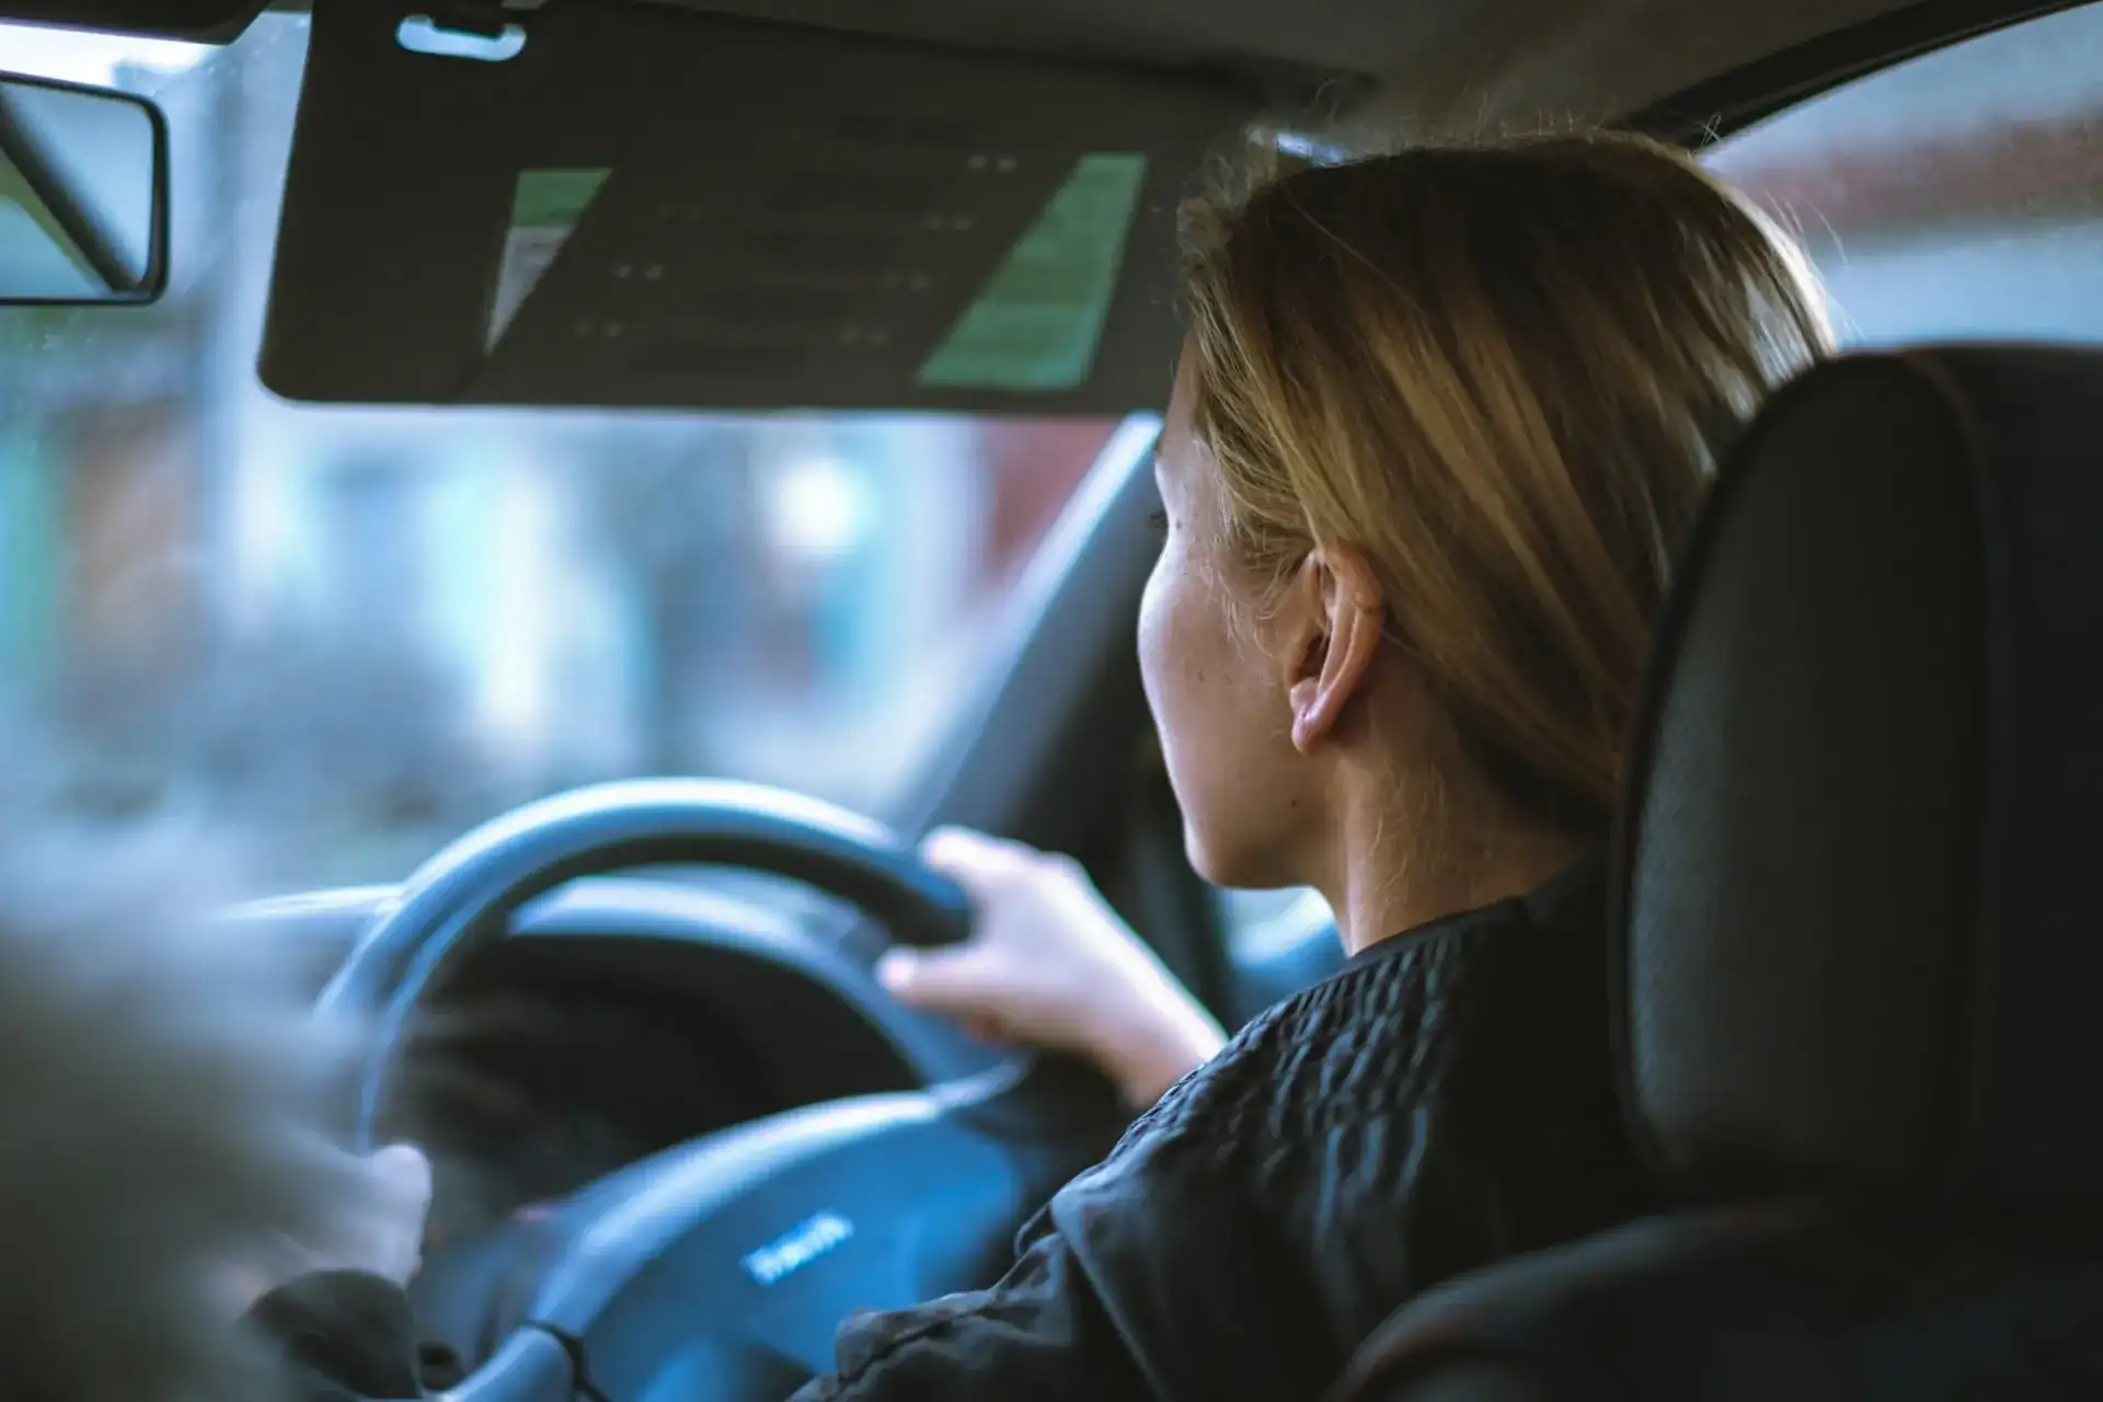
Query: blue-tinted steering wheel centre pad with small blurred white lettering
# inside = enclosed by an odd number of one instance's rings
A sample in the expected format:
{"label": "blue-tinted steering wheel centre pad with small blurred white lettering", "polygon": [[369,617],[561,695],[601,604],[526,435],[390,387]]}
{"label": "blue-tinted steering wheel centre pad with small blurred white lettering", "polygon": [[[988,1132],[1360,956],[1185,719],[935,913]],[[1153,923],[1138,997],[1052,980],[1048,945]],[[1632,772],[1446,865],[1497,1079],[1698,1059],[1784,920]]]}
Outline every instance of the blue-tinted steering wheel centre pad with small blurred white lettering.
{"label": "blue-tinted steering wheel centre pad with small blurred white lettering", "polygon": [[1028,1207],[1012,1156],[953,1097],[831,1101],[576,1194],[530,1316],[601,1360],[610,1396],[641,1396],[700,1347],[715,1370],[808,1375],[850,1312],[997,1274]]}

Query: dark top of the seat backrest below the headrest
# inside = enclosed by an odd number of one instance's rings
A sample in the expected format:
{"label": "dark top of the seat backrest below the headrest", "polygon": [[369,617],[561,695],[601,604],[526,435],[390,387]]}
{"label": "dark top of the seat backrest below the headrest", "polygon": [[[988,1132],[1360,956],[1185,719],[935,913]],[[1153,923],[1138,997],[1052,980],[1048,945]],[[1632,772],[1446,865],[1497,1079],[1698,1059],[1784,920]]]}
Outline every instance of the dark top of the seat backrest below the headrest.
{"label": "dark top of the seat backrest below the headrest", "polygon": [[1354,1402],[2076,1402],[2103,1257],[1712,1209],[1476,1272],[1361,1352]]}

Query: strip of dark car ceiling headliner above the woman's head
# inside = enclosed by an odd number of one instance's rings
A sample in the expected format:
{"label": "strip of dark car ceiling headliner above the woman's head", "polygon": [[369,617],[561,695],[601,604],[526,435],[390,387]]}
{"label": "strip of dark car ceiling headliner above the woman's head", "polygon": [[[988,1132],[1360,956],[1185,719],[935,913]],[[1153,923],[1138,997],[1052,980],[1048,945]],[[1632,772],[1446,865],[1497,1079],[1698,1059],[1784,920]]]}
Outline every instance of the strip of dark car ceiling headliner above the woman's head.
{"label": "strip of dark car ceiling headliner above the woman's head", "polygon": [[671,2],[974,46],[1356,78],[1365,97],[1350,103],[1354,116],[1424,135],[1621,118],[1905,8],[1903,0]]}

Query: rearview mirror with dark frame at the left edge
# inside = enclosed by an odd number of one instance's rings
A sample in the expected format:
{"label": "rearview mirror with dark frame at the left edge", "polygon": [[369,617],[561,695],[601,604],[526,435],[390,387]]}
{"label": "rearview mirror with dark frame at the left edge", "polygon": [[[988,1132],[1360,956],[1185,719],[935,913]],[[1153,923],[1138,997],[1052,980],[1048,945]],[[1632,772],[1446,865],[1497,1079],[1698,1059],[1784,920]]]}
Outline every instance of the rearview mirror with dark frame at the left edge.
{"label": "rearview mirror with dark frame at the left edge", "polygon": [[0,74],[0,307],[168,286],[168,122],[143,97]]}

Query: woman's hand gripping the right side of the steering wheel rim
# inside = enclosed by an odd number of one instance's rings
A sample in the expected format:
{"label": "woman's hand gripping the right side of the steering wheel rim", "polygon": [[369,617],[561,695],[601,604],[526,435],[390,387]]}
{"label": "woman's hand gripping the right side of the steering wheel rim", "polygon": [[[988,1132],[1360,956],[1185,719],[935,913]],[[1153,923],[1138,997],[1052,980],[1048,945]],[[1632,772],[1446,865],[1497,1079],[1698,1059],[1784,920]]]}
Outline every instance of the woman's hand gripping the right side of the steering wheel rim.
{"label": "woman's hand gripping the right side of the steering wheel rim", "polygon": [[902,1003],[988,1040],[1083,1055],[1134,1108],[1226,1045],[1070,858],[957,828],[921,855],[969,893],[978,919],[965,944],[883,956],[877,973]]}

